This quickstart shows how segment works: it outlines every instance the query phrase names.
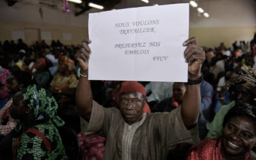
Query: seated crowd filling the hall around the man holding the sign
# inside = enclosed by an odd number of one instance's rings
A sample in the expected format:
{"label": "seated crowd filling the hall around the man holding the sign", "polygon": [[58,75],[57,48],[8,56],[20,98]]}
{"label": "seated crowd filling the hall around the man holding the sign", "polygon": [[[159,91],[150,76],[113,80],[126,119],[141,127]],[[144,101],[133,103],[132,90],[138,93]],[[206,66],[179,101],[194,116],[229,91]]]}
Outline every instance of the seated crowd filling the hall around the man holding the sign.
{"label": "seated crowd filling the hall around the man holding the sign", "polygon": [[[166,156],[168,159],[255,157],[256,34],[252,37],[250,43],[235,42],[233,49],[223,43],[209,49],[203,47],[200,143],[178,145]],[[81,159],[103,158],[108,140],[100,132],[84,134],[76,104],[81,75],[76,54],[81,47],[63,45],[59,40],[53,40],[51,45],[43,40],[31,46],[21,39],[17,44],[13,40],[0,42],[0,152],[6,153],[0,154],[0,159],[70,159],[58,132],[63,125],[76,132]],[[187,83],[178,82],[138,83],[129,85],[134,85],[134,90],[144,90],[147,102],[143,113],[177,110],[188,87]],[[120,93],[125,85],[128,82],[91,81],[93,100],[104,108],[122,110]],[[230,136],[232,132],[236,137]],[[246,140],[248,143],[243,143]],[[239,147],[241,152],[234,153]]]}

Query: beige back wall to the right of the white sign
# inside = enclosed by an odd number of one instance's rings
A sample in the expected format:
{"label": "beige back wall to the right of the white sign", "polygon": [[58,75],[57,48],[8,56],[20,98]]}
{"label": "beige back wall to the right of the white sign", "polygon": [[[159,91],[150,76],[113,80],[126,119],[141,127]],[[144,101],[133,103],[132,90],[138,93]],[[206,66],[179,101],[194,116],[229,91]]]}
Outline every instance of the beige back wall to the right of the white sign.
{"label": "beige back wall to the right of the white sign", "polygon": [[190,9],[189,36],[196,36],[198,44],[218,47],[224,42],[232,47],[236,40],[250,41],[256,33],[255,0],[200,1],[199,6],[210,17],[198,17],[195,8]]}

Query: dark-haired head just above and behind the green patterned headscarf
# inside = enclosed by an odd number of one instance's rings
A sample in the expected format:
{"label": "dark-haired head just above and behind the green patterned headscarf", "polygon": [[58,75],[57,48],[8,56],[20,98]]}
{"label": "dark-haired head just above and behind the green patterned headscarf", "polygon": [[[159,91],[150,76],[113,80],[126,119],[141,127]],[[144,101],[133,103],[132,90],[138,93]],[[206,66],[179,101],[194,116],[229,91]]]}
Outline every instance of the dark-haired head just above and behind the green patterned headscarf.
{"label": "dark-haired head just above and behind the green patterned headscarf", "polygon": [[22,90],[22,88],[26,88],[29,85],[36,84],[36,80],[34,79],[31,74],[24,71],[15,72],[10,76],[10,78],[7,80],[8,82],[8,92],[11,95],[14,95],[15,93]]}

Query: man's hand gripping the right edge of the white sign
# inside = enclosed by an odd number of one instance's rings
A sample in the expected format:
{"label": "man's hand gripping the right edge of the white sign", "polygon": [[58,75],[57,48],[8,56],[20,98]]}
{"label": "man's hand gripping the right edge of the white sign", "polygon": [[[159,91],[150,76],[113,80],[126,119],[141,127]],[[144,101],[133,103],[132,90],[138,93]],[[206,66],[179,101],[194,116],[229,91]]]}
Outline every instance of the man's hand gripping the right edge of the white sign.
{"label": "man's hand gripping the right edge of the white sign", "polygon": [[184,58],[188,63],[188,79],[199,79],[201,67],[205,60],[205,52],[202,47],[197,45],[195,37],[186,40],[183,46],[187,46],[184,51]]}

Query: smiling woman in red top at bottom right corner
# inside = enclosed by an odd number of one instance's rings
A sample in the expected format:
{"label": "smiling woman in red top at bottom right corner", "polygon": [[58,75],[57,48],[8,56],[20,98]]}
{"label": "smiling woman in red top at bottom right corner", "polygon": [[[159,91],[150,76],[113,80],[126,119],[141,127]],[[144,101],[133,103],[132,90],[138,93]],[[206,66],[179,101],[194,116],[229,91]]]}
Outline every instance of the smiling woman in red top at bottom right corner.
{"label": "smiling woman in red top at bottom right corner", "polygon": [[256,159],[252,151],[256,144],[256,108],[237,102],[223,120],[219,138],[206,139],[193,145],[186,160]]}

